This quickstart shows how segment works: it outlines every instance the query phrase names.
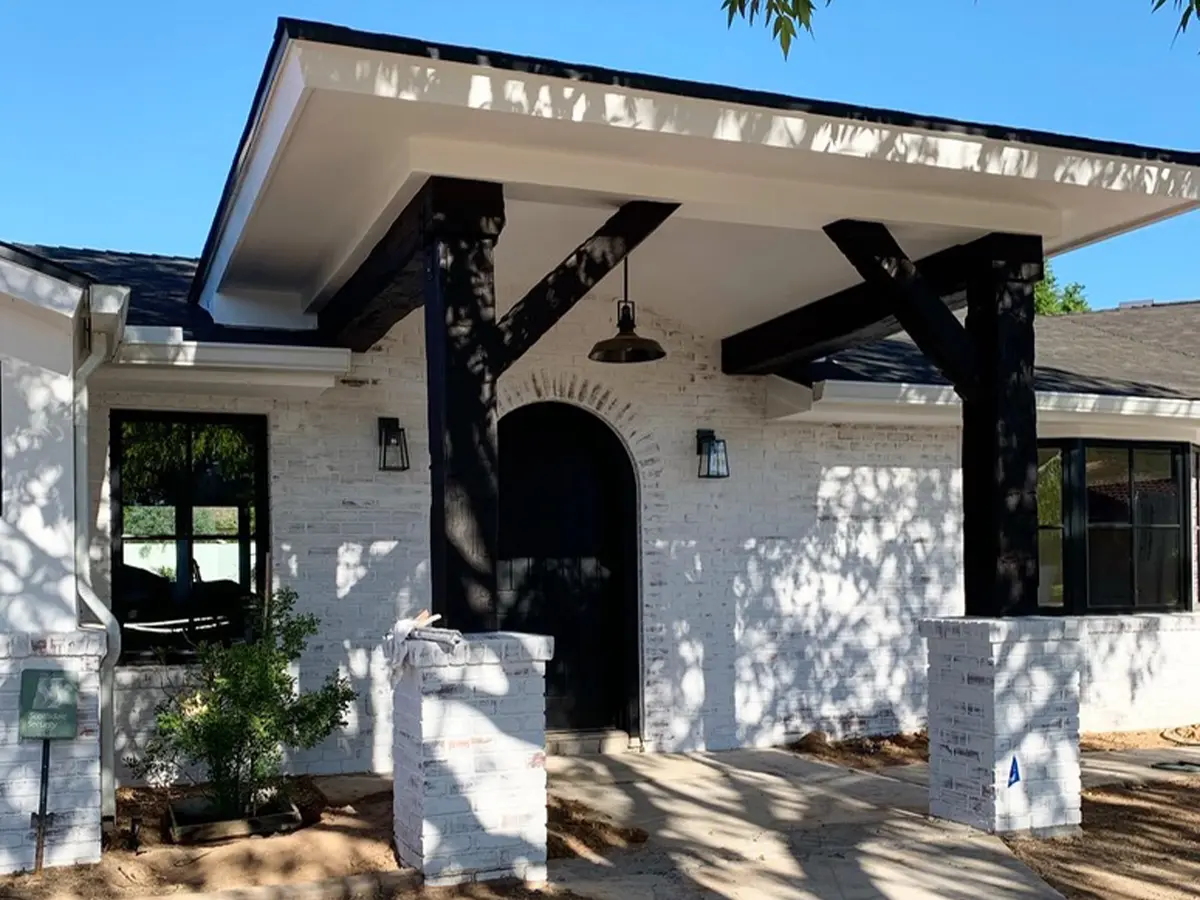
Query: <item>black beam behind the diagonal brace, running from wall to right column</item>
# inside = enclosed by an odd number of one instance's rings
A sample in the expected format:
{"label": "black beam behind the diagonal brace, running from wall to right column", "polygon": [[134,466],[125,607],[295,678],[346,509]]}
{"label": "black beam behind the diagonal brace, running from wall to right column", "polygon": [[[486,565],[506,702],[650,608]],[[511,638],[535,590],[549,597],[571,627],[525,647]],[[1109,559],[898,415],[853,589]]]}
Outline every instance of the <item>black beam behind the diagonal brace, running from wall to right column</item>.
{"label": "black beam behind the diagonal brace, running from wall to right column", "polygon": [[[977,242],[916,262],[928,290],[943,298],[952,311],[966,305],[960,294]],[[871,284],[856,284],[726,337],[721,341],[721,371],[770,374],[888,337],[902,328],[890,298]]]}

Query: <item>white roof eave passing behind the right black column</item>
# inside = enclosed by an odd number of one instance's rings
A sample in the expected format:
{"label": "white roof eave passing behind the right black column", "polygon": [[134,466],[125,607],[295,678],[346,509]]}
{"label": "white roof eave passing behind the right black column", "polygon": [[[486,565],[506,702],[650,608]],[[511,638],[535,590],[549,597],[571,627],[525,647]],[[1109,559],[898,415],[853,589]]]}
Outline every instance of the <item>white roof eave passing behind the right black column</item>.
{"label": "white roof eave passing behind the right black column", "polygon": [[[1038,391],[1037,410],[1043,437],[1154,437],[1165,430],[1195,439],[1200,433],[1196,400]],[[958,427],[962,409],[954,389],[947,385],[826,380],[809,386],[768,376],[767,419]]]}

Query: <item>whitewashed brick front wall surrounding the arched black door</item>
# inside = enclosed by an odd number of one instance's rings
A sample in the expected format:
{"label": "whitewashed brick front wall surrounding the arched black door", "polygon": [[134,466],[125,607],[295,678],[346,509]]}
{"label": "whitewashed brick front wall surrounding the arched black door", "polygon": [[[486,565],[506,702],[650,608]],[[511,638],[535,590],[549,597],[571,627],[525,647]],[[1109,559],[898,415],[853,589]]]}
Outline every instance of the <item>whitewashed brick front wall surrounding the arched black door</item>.
{"label": "whitewashed brick front wall surrounding the arched black door", "polygon": [[[667,359],[587,360],[612,305],[581,302],[500,379],[502,410],[538,400],[592,409],[620,436],[641,494],[643,737],[652,749],[774,744],[916,727],[925,656],[917,622],[962,610],[954,430],[768,424],[764,386],[720,373],[716,340],[640,311]],[[295,764],[391,768],[382,636],[430,602],[428,438],[420,316],[318,400],[92,395],[94,578],[108,593],[108,409],[269,418],[272,562],[324,629],[305,683],[341,668],[359,691],[347,728]],[[408,430],[413,468],[377,470],[376,419]],[[732,478],[696,478],[696,428],[728,442]],[[118,758],[152,721],[152,672],[118,679]]]}

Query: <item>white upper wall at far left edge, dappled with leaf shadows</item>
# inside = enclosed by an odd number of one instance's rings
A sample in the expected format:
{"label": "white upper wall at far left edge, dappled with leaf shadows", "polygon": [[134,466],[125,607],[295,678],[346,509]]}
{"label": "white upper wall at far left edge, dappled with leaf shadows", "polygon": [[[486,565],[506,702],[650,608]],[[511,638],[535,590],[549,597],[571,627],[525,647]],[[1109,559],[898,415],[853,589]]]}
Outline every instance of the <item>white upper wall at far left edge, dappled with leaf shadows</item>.
{"label": "white upper wall at far left edge, dappled with leaf shadows", "polygon": [[2,367],[0,630],[73,630],[72,382],[14,359]]}

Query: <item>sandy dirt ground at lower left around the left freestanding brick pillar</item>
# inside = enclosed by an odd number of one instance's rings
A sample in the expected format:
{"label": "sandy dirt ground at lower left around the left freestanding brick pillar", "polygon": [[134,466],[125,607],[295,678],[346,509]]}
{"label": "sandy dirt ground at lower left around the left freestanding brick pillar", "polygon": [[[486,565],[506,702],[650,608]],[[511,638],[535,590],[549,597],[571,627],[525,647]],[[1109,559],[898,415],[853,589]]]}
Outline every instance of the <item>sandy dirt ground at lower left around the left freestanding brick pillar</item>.
{"label": "sandy dirt ground at lower left around the left freestanding brick pillar", "polygon": [[[48,869],[41,876],[0,877],[4,900],[128,900],[186,890],[223,890],[260,884],[324,881],[346,875],[398,871],[391,847],[391,791],[353,797],[332,806],[310,779],[292,785],[306,826],[271,838],[181,847],[166,839],[169,800],[184,791],[122,788],[118,796],[114,846],[98,865]],[[587,856],[646,840],[640,829],[618,828],[581,804],[552,800],[547,809],[553,858]],[[142,818],[140,841],[130,841],[133,816]],[[492,900],[499,898],[578,899],[577,894],[538,892],[522,884],[491,883],[430,890],[401,890],[396,900]]]}

